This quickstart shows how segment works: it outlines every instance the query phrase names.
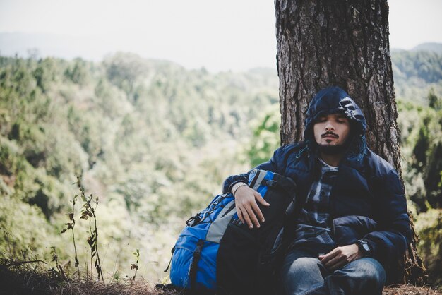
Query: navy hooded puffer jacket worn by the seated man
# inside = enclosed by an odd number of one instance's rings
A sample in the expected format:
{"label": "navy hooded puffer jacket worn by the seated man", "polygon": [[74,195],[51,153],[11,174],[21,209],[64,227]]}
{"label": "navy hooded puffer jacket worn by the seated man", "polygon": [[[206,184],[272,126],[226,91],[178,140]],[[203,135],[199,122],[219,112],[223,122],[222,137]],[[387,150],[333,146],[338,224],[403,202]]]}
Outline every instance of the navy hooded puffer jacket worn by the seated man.
{"label": "navy hooded puffer jacket worn by the seated man", "polygon": [[[313,125],[323,114],[345,114],[350,119],[350,143],[339,164],[338,176],[330,193],[331,219],[347,219],[357,232],[361,218],[374,220],[376,229],[367,227],[363,236],[348,241],[366,239],[373,257],[389,270],[405,253],[411,239],[405,193],[397,171],[366,147],[366,120],[350,96],[338,87],[321,90],[313,97],[305,120],[305,141],[275,150],[273,157],[255,169],[270,170],[291,177],[297,183],[299,198],[306,199],[313,179],[320,173]],[[237,182],[247,183],[249,173],[229,176],[223,193]],[[345,223],[345,222],[344,222]],[[333,224],[330,224],[330,228]],[[353,242],[350,242],[353,243]],[[342,246],[337,244],[336,246]]]}

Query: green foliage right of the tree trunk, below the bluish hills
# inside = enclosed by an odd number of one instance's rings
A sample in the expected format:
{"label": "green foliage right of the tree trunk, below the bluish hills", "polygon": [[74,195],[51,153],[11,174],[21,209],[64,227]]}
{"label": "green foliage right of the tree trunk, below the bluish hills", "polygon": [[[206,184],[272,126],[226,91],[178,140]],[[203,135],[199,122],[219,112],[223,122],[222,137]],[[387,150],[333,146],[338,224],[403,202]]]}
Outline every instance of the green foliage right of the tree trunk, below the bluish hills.
{"label": "green foliage right of the tree trunk, below the bluish hills", "polygon": [[420,213],[415,224],[418,251],[429,270],[429,282],[437,286],[442,282],[442,100],[432,90],[426,99],[429,107],[400,101],[398,124],[407,197]]}

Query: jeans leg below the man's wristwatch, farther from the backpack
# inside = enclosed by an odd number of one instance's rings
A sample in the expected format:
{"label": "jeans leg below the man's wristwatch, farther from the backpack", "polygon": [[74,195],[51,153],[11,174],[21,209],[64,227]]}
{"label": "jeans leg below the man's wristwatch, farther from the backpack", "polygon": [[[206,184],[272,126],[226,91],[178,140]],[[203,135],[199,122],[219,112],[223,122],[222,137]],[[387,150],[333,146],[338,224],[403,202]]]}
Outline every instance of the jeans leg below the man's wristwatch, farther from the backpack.
{"label": "jeans leg below the man's wristwatch, farther from the backpack", "polygon": [[306,294],[381,295],[386,272],[373,258],[360,258],[325,277],[323,287]]}

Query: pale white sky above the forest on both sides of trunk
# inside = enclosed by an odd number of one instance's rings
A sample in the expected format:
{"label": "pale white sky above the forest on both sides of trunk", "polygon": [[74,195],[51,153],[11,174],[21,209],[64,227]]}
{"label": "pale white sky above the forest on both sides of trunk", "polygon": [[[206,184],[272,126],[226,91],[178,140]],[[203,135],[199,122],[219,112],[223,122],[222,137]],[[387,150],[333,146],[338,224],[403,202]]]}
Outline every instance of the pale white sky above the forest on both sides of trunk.
{"label": "pale white sky above the forest on both sides of trunk", "polygon": [[[442,0],[388,4],[391,48],[442,43]],[[125,51],[210,71],[276,63],[271,0],[0,0],[0,34],[17,32],[25,33],[17,48],[43,56],[100,60]],[[1,40],[0,54],[18,51],[11,37]]]}

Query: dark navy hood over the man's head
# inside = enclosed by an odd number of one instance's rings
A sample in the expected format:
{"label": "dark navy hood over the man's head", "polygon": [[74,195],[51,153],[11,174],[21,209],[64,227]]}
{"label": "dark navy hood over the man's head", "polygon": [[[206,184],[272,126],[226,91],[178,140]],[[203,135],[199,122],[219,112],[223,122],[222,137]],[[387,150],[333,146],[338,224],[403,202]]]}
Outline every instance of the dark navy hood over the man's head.
{"label": "dark navy hood over the man's head", "polygon": [[347,158],[356,158],[358,161],[366,152],[366,120],[359,106],[342,88],[337,86],[319,91],[311,100],[305,120],[304,138],[310,150],[316,147],[313,136],[313,125],[318,116],[328,114],[345,114],[350,120],[350,138]]}

